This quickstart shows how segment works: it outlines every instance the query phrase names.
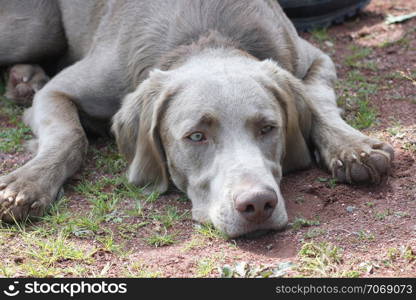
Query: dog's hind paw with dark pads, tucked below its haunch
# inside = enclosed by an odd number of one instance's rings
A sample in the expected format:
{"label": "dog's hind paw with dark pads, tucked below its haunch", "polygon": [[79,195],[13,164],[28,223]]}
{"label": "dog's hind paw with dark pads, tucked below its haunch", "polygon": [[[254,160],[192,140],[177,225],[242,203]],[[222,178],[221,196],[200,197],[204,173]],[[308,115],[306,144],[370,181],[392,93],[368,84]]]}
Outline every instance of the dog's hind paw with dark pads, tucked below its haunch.
{"label": "dog's hind paw with dark pads, tucked below its haunch", "polygon": [[17,104],[30,105],[33,96],[49,80],[37,65],[15,65],[9,71],[5,96]]}

